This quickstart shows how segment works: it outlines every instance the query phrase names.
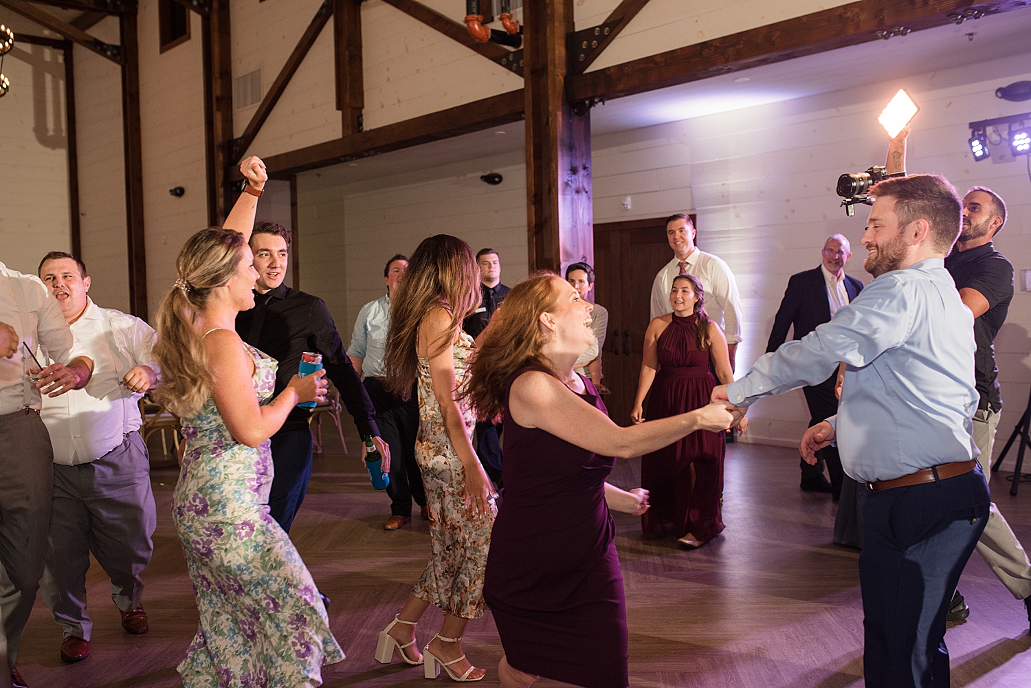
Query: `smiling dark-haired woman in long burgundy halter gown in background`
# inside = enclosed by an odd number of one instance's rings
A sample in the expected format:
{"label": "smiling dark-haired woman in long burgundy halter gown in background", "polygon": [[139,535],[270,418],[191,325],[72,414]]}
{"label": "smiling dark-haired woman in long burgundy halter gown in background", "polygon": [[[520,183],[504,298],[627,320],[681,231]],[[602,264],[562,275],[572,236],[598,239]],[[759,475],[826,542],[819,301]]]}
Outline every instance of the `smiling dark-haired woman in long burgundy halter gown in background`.
{"label": "smiling dark-haired woman in long burgundy halter gown in background", "polygon": [[[630,415],[635,423],[644,420],[648,390],[648,418],[657,420],[704,406],[713,387],[734,382],[727,338],[705,314],[698,277],[674,277],[669,302],[673,313],[654,319],[644,333],[644,360]],[[724,528],[723,457],[723,433],[706,430],[645,455],[641,483],[652,509],[641,517],[644,532],[659,534],[672,524],[677,542],[692,549],[716,537]]]}

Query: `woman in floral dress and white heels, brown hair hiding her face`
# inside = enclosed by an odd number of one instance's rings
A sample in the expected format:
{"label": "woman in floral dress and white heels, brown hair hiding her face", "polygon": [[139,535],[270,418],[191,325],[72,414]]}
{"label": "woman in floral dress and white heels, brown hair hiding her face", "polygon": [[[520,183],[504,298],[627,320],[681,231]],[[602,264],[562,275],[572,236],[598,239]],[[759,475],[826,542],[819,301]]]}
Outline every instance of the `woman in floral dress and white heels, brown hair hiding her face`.
{"label": "woman in floral dress and white heels, brown hair hiding her face", "polygon": [[430,604],[444,622],[424,649],[427,678],[442,666],[455,681],[479,681],[486,671],[462,653],[469,619],[484,615],[484,568],[497,509],[494,490],[472,448],[475,417],[456,400],[472,352],[462,321],[479,305],[479,268],[469,244],[438,234],[425,239],[391,298],[387,336],[388,386],[405,394],[419,382],[415,461],[423,471],[432,558],[401,613],[379,634],[376,659],[395,654],[424,663],[415,623]]}

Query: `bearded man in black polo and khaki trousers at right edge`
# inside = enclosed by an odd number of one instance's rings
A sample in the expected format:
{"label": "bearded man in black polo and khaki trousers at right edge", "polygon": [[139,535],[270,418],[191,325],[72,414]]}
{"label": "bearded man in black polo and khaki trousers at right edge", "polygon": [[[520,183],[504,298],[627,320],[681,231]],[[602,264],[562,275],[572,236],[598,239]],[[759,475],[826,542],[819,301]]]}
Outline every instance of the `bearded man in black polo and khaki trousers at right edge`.
{"label": "bearded man in black polo and khaki trousers at right edge", "polygon": [[[992,446],[1002,411],[994,341],[1013,298],[1013,266],[992,245],[992,237],[1005,222],[1006,204],[1002,199],[986,187],[972,188],[963,198],[960,237],[945,258],[945,269],[974,316],[974,379],[980,399],[973,417],[973,439],[980,450],[978,460],[986,478],[992,474]],[[994,502],[977,552],[1013,597],[1024,600],[1031,622],[1031,562]],[[969,614],[957,590],[950,605],[950,620],[960,621]]]}

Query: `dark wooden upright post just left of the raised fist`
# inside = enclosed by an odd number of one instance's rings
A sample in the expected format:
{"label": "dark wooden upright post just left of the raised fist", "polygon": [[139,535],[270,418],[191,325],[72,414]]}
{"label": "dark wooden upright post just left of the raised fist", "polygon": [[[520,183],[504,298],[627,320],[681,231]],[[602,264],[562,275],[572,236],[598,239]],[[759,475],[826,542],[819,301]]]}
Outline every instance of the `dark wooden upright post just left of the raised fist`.
{"label": "dark wooden upright post just left of the raised fist", "polygon": [[228,189],[227,169],[233,142],[233,72],[229,33],[229,0],[211,0],[203,27],[204,142],[207,171],[207,223],[221,227],[233,194]]}

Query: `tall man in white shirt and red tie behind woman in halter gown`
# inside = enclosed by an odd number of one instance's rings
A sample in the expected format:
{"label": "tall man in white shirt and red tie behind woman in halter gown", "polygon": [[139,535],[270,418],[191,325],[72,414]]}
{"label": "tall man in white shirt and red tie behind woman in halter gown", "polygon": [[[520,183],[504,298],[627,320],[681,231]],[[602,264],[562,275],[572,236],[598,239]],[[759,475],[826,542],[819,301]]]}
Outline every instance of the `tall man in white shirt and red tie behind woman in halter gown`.
{"label": "tall man in white shirt and red tie behind woman in halter gown", "polygon": [[673,260],[659,270],[652,283],[652,318],[672,313],[669,290],[673,277],[693,274],[705,290],[705,313],[727,335],[730,367],[734,368],[737,345],[741,341],[741,297],[737,293],[734,273],[722,258],[699,251],[695,245],[697,235],[691,218],[677,212],[666,218],[666,238],[673,250]]}

